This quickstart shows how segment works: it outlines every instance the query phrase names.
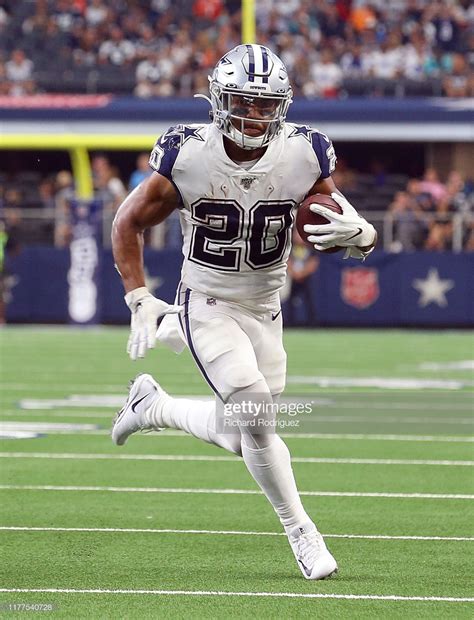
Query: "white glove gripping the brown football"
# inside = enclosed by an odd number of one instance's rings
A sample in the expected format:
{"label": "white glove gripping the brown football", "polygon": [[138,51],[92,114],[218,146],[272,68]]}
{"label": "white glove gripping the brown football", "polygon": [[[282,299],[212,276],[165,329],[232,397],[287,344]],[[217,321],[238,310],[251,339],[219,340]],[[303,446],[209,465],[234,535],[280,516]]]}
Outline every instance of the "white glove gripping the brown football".
{"label": "white glove gripping the brown football", "polygon": [[[310,206],[313,213],[322,215],[330,224],[306,224],[304,230],[310,233],[308,241],[314,244],[316,250],[327,250],[336,245],[340,247],[350,248],[349,252],[346,252],[347,258],[352,254],[352,250],[358,248],[364,248],[372,245],[376,239],[376,231],[372,224],[369,224],[367,220],[361,217],[351,203],[341,196],[333,192],[331,198],[337,202],[341,207],[342,213],[335,213],[323,205],[314,203]],[[366,256],[368,252],[362,252],[363,256]],[[362,258],[363,256],[354,256],[354,258]]]}

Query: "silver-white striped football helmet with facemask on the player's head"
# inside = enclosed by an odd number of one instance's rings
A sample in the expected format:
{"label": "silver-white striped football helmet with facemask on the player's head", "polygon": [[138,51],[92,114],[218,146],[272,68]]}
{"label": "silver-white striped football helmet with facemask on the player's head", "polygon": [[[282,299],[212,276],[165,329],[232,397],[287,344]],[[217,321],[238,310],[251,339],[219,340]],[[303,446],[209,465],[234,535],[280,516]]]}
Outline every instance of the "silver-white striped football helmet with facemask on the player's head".
{"label": "silver-white striped football helmet with facemask on the player's head", "polygon": [[209,77],[212,120],[244,149],[270,144],[280,133],[293,91],[283,62],[263,45],[238,45]]}

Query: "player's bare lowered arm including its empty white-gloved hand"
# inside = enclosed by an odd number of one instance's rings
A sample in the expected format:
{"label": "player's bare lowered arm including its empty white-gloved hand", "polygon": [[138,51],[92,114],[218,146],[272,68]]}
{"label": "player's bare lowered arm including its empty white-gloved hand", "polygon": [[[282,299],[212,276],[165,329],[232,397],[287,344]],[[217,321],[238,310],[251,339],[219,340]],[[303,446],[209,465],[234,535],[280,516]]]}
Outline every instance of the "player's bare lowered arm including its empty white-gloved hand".
{"label": "player's bare lowered arm including its empty white-gloved hand", "polygon": [[145,286],[143,232],[160,224],[179,204],[173,184],[153,173],[131,192],[120,205],[112,227],[112,248],[116,267],[122,276],[130,308],[131,331],[127,352],[132,359],[144,357],[155,346],[157,321],[180,307],[156,299]]}

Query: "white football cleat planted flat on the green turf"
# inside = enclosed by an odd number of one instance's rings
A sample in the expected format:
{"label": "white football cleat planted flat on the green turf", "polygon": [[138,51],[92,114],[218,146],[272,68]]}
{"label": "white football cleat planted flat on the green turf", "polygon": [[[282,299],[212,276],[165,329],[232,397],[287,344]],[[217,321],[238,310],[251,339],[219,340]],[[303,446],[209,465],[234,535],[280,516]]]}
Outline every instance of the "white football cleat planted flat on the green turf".
{"label": "white football cleat planted flat on the green turf", "polygon": [[337,573],[337,562],[314,523],[295,527],[288,540],[305,579],[326,579]]}

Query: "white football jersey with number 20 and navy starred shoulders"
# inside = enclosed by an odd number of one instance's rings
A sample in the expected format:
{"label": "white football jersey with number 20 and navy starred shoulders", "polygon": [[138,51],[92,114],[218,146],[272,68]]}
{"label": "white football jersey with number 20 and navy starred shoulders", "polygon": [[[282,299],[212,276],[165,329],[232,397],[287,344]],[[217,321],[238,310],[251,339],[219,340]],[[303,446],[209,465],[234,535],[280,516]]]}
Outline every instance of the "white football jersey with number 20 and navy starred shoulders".
{"label": "white football jersey with number 20 and navy starred shoulders", "polygon": [[295,208],[335,161],[329,138],[306,125],[285,123],[249,170],[229,159],[213,124],[171,127],[150,166],[181,196],[182,281],[209,297],[274,308]]}

